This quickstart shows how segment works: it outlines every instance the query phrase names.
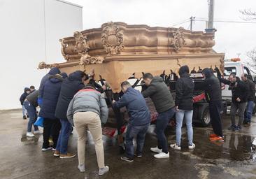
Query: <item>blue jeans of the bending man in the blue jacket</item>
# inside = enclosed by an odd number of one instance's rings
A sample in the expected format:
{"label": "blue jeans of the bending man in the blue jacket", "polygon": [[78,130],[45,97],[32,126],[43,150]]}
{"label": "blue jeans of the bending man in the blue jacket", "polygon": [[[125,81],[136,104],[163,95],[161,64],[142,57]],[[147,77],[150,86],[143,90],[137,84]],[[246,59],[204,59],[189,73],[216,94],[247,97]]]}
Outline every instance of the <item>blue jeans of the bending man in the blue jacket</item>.
{"label": "blue jeans of the bending man in the blue jacket", "polygon": [[127,157],[134,158],[134,136],[136,136],[136,155],[142,155],[143,145],[145,141],[145,134],[148,131],[150,124],[145,124],[142,126],[132,126],[131,124],[127,127],[127,134],[125,138],[125,147]]}

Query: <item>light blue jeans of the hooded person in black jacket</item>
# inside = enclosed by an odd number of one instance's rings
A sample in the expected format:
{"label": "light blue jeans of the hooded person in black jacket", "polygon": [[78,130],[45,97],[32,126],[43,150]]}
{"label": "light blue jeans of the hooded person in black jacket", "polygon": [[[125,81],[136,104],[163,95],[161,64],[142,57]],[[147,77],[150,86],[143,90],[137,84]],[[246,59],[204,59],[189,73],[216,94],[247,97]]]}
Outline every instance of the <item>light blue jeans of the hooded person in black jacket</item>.
{"label": "light blue jeans of the hooded person in black jacket", "polygon": [[180,146],[181,127],[183,126],[184,117],[187,125],[188,144],[189,145],[193,144],[193,128],[192,128],[193,110],[178,110],[176,111],[176,143],[178,146]]}

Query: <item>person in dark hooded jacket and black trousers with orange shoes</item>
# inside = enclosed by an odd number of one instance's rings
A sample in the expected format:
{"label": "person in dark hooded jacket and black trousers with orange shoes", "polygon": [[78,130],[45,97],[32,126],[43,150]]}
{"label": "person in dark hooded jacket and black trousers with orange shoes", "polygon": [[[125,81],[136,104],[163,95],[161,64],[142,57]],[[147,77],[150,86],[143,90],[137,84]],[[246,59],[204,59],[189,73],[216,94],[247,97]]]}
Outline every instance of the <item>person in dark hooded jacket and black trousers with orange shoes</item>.
{"label": "person in dark hooded jacket and black trousers with orange shoes", "polygon": [[222,106],[222,97],[220,89],[220,80],[216,78],[211,69],[204,69],[202,71],[204,82],[196,85],[195,89],[204,90],[206,101],[209,103],[209,112],[211,117],[211,125],[213,133],[210,135],[211,141],[224,141],[222,134],[222,122],[220,117],[220,110]]}

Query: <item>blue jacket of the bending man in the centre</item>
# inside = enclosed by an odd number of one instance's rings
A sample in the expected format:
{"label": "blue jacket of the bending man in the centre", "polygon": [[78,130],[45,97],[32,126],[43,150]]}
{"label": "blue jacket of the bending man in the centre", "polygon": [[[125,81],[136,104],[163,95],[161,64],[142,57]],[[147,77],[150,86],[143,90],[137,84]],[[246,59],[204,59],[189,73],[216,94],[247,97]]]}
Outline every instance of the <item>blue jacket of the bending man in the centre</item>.
{"label": "blue jacket of the bending man in the centre", "polygon": [[141,126],[150,123],[150,111],[141,92],[129,87],[121,99],[113,103],[113,108],[125,106],[129,114],[129,124]]}

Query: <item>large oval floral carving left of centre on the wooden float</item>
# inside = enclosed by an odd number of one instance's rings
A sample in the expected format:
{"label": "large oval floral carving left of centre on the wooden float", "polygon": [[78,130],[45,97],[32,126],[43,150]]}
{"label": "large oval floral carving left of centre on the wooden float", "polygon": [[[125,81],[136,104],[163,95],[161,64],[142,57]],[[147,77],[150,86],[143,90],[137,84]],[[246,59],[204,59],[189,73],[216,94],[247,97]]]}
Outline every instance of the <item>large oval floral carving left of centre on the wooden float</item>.
{"label": "large oval floral carving left of centre on the wooden float", "polygon": [[108,22],[101,33],[101,43],[108,55],[118,54],[124,47],[124,34],[114,22]]}

